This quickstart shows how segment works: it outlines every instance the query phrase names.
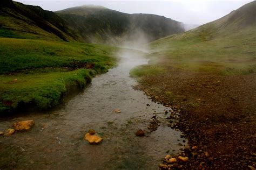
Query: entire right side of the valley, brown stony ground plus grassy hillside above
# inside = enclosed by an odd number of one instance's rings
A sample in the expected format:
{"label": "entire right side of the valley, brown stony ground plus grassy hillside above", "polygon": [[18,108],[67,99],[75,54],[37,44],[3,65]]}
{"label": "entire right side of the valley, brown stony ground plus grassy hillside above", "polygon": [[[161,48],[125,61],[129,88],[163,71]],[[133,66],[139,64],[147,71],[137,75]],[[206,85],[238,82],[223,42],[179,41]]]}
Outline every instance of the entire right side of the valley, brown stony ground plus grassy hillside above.
{"label": "entire right side of the valley, brown stony ground plus grassy hillside above", "polygon": [[150,64],[130,72],[138,78],[136,88],[153,101],[181,110],[179,118],[167,119],[196,146],[184,150],[190,157],[184,169],[255,167],[255,17],[254,1],[191,31],[156,40],[150,44]]}

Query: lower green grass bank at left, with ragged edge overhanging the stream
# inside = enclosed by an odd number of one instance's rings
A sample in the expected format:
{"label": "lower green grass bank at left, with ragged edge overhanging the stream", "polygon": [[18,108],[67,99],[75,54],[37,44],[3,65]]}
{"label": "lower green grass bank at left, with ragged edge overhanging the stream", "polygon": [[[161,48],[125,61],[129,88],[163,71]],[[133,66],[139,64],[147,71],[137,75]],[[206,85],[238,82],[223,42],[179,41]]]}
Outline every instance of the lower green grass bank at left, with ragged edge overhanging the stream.
{"label": "lower green grass bank at left, with ragged edge overhanging the stream", "polygon": [[83,88],[90,80],[91,75],[87,69],[77,69],[72,72],[1,75],[0,112],[8,114],[8,111],[22,106],[37,109],[54,107],[68,92],[69,87]]}

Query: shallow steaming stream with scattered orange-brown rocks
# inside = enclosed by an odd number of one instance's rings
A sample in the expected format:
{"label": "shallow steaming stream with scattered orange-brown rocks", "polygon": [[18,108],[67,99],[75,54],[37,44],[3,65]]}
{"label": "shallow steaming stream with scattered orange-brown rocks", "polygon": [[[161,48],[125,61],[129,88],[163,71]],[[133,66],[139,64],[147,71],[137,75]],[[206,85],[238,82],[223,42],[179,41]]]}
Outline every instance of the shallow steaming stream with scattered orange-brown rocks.
{"label": "shallow steaming stream with scattered orange-brown rocks", "polygon": [[[158,169],[167,151],[177,153],[182,139],[167,126],[165,111],[170,108],[132,88],[136,80],[129,77],[130,69],[147,59],[127,53],[120,58],[118,67],[93,78],[59,108],[0,119],[0,131],[17,121],[36,122],[30,131],[0,137],[0,169]],[[161,122],[153,132],[147,129],[152,116]],[[101,144],[83,139],[89,129],[103,137]],[[136,137],[138,129],[146,136]]]}

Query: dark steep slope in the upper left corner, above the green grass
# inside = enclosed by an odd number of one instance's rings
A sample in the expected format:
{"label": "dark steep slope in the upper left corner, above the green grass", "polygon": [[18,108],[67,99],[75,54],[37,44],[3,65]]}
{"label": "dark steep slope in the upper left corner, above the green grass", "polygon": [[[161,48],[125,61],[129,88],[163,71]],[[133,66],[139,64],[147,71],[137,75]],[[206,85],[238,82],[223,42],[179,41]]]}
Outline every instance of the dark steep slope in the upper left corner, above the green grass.
{"label": "dark steep slope in the upper left corner, above the green grass", "polygon": [[39,6],[3,0],[0,18],[0,37],[64,41],[79,39],[62,18]]}

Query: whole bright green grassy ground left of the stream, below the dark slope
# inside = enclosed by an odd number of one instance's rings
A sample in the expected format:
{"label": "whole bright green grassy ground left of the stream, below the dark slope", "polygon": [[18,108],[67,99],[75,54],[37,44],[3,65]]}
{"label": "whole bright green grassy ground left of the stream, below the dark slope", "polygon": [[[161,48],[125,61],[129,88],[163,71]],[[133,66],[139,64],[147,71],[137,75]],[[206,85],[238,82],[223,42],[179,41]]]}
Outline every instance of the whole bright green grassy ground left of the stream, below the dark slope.
{"label": "whole bright green grassy ground left of the stream, below the dark slope", "polygon": [[[0,38],[0,112],[56,105],[69,86],[83,87],[96,72],[114,66],[116,51],[102,45]],[[80,68],[87,66],[93,68]]]}

